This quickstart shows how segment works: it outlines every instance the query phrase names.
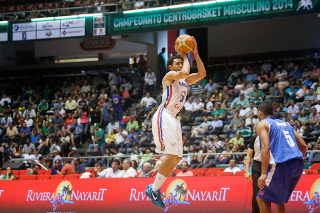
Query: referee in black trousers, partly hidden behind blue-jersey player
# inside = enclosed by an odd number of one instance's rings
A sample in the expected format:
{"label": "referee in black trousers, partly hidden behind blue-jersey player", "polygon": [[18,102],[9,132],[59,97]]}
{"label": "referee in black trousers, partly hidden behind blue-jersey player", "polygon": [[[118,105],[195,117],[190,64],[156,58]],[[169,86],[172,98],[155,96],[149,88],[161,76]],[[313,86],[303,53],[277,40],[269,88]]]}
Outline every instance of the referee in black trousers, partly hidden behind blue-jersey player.
{"label": "referee in black trousers, partly hidden behind blue-jersey player", "polygon": [[[250,168],[252,157],[253,157],[253,164],[251,169],[252,170],[252,177],[251,177],[249,168]],[[246,155],[246,158],[245,158],[244,171],[245,171],[246,181],[251,182],[250,179],[252,178],[252,188],[253,188],[252,213],[260,213],[259,206],[256,202],[256,196],[259,193],[259,187],[258,187],[257,181],[261,176],[260,141],[257,134],[253,134],[250,138],[248,154]]]}

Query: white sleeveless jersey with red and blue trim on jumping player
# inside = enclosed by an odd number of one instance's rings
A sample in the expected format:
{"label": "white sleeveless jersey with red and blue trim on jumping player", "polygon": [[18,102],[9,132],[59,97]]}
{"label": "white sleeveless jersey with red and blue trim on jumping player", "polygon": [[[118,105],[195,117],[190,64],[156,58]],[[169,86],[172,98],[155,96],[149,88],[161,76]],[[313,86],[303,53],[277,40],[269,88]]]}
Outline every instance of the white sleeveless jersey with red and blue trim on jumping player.
{"label": "white sleeveless jersey with red and blue trim on jumping player", "polygon": [[188,85],[185,79],[173,81],[169,86],[163,84],[162,80],[162,103],[159,107],[170,110],[173,114],[177,114],[184,105]]}

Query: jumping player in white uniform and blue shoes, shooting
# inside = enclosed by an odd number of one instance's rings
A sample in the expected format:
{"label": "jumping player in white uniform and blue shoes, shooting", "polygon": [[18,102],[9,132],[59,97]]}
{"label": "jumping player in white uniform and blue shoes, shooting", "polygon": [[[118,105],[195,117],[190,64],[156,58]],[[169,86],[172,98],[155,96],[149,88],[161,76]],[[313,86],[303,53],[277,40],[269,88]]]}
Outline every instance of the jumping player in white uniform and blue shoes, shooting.
{"label": "jumping player in white uniform and blue shoes, shooting", "polygon": [[162,103],[152,118],[155,152],[167,154],[167,156],[160,164],[154,183],[147,185],[145,194],[150,198],[153,206],[161,209],[164,209],[165,205],[161,198],[160,187],[182,159],[181,127],[175,116],[184,105],[187,86],[194,84],[206,75],[204,65],[197,51],[196,41],[193,36],[192,38],[194,42],[192,52],[198,72],[189,74],[190,65],[186,54],[174,46],[179,55],[172,56],[167,61],[169,71],[162,79]]}

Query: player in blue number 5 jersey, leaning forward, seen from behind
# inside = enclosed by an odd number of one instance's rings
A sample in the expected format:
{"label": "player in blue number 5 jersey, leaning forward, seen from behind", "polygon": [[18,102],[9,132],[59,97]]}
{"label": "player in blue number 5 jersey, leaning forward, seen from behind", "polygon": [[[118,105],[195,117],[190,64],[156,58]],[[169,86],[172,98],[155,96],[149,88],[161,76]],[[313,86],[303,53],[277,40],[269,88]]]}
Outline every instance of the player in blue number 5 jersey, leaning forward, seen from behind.
{"label": "player in blue number 5 jersey, leaning forward, seen from behind", "polygon": [[273,118],[273,107],[263,101],[258,107],[260,122],[256,133],[261,146],[261,176],[257,181],[260,191],[256,197],[260,213],[284,213],[291,193],[303,172],[306,144],[291,125]]}

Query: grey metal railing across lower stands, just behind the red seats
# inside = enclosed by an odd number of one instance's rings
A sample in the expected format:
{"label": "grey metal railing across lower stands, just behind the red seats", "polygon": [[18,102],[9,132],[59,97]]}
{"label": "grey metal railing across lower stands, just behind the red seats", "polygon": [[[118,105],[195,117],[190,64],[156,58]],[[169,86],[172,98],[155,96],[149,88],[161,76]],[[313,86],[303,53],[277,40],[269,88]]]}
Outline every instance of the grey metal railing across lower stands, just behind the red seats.
{"label": "grey metal railing across lower stands, just behind the red seats", "polygon": [[[320,150],[307,150],[307,153],[312,153],[312,152],[320,152]],[[191,154],[183,154],[183,156],[205,156],[205,155],[247,155],[247,152],[232,152],[232,153],[191,153]],[[123,156],[81,156],[79,158],[81,159],[90,159],[90,158],[106,158],[107,160],[107,165],[109,165],[109,159],[110,158],[130,158],[132,155],[123,155]],[[166,155],[152,155],[152,157],[163,157]],[[145,155],[137,155],[136,156],[138,159],[141,157],[145,157]],[[148,156],[150,157],[150,156]],[[53,158],[48,158],[49,160],[53,160]],[[68,159],[68,157],[63,157],[62,159]],[[37,159],[23,159],[23,158],[13,158],[9,161],[12,162],[21,162],[21,161],[31,161],[31,167],[34,163],[38,163]],[[139,162],[137,162],[139,163]],[[39,163],[38,163],[39,164]]]}

